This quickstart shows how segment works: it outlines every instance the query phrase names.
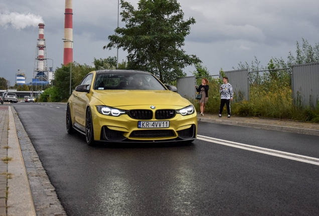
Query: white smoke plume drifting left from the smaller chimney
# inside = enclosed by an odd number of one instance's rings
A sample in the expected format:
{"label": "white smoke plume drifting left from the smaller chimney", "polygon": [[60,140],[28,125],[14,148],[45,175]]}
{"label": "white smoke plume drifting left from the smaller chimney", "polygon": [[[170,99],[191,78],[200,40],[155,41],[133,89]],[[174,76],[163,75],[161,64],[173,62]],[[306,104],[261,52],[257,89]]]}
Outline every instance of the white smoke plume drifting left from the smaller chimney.
{"label": "white smoke plume drifting left from the smaller chimney", "polygon": [[16,29],[23,29],[29,26],[37,27],[39,23],[44,23],[42,16],[35,15],[32,13],[0,13],[0,24],[5,28],[7,28],[8,26],[12,26]]}

